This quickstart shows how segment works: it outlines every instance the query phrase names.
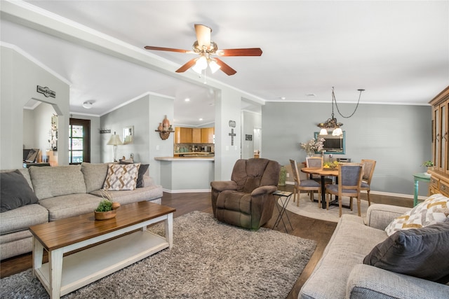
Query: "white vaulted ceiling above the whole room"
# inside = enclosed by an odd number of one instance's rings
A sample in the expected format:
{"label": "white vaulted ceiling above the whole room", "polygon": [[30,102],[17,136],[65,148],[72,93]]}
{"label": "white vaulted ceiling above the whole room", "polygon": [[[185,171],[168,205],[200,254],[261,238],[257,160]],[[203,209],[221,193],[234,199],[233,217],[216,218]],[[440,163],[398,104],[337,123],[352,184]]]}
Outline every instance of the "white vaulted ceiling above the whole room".
{"label": "white vaulted ceiling above the whole room", "polygon": [[[39,20],[13,16],[17,7]],[[355,103],[364,88],[362,104],[420,105],[449,83],[449,1],[1,1],[0,9],[1,41],[71,83],[72,113],[100,116],[153,92],[175,98],[175,124],[201,125],[214,121],[215,81],[246,92],[251,104],[330,103],[334,86],[337,102]],[[45,28],[48,18],[55,23]],[[190,50],[195,23],[213,29],[219,48],[259,47],[263,54],[222,57],[237,74],[207,74],[203,84],[192,70],[175,74],[192,54],[143,50]],[[67,25],[86,39],[91,29],[116,39],[135,60],[67,37]],[[140,63],[146,59],[155,62]],[[90,110],[82,107],[88,100],[95,101]]]}

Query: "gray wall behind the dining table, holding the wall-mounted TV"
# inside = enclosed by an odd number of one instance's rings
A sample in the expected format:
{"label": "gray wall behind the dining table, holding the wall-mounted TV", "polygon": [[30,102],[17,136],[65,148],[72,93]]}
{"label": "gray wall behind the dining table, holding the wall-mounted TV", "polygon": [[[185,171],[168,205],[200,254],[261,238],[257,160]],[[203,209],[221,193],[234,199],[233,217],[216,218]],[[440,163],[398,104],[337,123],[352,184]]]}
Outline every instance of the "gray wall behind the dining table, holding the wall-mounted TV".
{"label": "gray wall behind the dining table, holding the wall-mounted TV", "polygon": [[[349,115],[355,104],[339,104]],[[330,118],[330,103],[274,103],[262,106],[262,157],[287,165],[302,162],[306,153],[300,143],[314,137],[317,123]],[[377,161],[371,190],[413,194],[413,174],[424,172],[420,165],[431,160],[431,106],[360,104],[354,116],[335,117],[346,131],[346,154],[334,158]],[[326,158],[326,157],[325,157]],[[420,195],[427,195],[421,186]]]}

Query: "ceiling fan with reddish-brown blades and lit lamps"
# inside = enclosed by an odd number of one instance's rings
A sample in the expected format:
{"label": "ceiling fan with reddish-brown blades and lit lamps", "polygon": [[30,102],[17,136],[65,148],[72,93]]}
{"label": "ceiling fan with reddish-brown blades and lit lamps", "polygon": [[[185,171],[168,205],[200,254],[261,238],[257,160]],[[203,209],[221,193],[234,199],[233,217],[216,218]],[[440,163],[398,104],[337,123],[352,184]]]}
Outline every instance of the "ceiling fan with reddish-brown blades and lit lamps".
{"label": "ceiling fan with reddish-brown blades and lit lamps", "polygon": [[210,41],[210,33],[212,29],[207,26],[195,24],[196,41],[194,42],[192,48],[193,50],[182,50],[174,48],[162,48],[154,46],[145,46],[147,50],[159,50],[159,51],[169,51],[169,52],[179,52],[179,53],[194,53],[198,54],[199,57],[189,60],[186,64],[182,65],[176,70],[177,73],[182,73],[187,71],[187,69],[192,69],[198,74],[206,69],[208,66],[210,70],[215,73],[218,69],[221,69],[228,76],[236,74],[236,70],[229,67],[228,64],[223,62],[217,57],[211,57],[212,55],[217,56],[260,56],[262,55],[262,50],[260,48],[243,48],[243,49],[224,49],[218,50],[218,46],[215,42]]}

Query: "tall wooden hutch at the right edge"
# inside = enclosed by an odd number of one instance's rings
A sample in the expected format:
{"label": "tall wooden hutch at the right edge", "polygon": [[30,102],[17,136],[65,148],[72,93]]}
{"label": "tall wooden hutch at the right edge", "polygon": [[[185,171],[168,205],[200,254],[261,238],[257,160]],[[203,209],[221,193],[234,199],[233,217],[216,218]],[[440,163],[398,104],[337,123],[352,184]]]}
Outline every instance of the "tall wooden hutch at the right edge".
{"label": "tall wooden hutch at the right edge", "polygon": [[449,196],[449,86],[429,102],[432,105],[433,169],[429,194]]}

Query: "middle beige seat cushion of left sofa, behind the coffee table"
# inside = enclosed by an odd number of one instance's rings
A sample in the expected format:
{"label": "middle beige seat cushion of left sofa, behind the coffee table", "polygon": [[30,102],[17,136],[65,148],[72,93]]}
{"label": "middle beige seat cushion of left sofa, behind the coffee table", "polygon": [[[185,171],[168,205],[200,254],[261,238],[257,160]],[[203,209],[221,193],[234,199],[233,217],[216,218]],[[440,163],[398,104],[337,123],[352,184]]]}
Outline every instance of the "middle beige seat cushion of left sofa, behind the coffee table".
{"label": "middle beige seat cushion of left sofa, behind the coffee table", "polygon": [[39,204],[48,209],[48,221],[55,221],[91,213],[98,207],[101,200],[101,197],[95,195],[77,193],[46,198],[40,200]]}

